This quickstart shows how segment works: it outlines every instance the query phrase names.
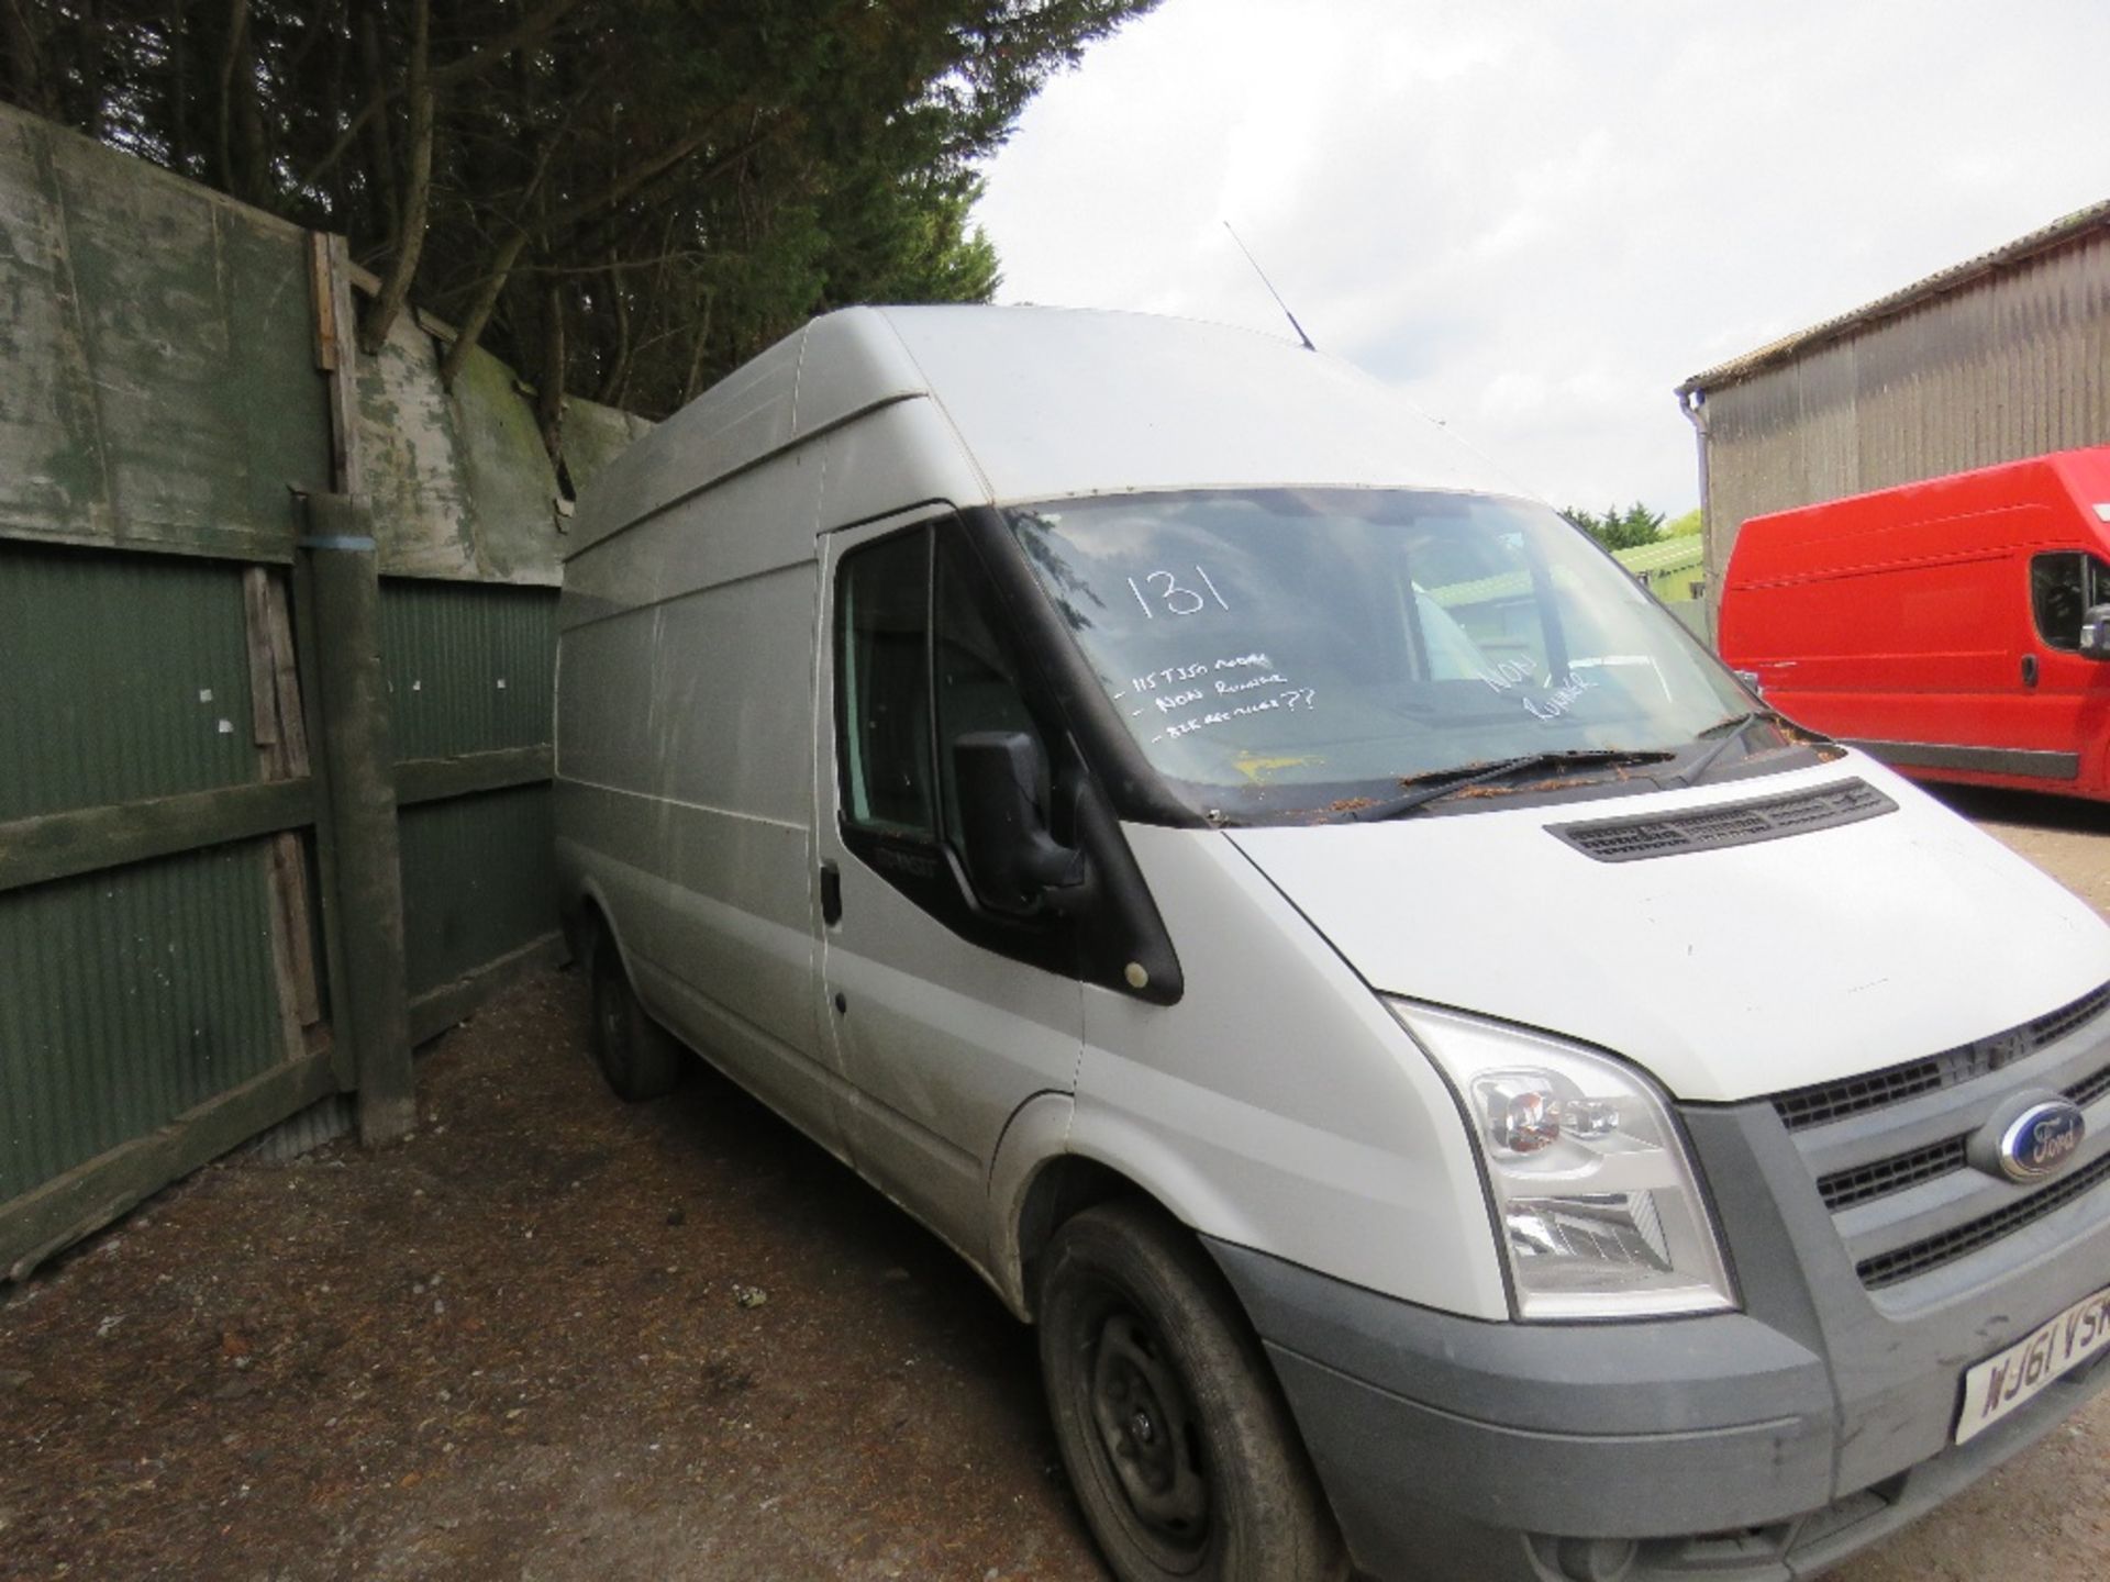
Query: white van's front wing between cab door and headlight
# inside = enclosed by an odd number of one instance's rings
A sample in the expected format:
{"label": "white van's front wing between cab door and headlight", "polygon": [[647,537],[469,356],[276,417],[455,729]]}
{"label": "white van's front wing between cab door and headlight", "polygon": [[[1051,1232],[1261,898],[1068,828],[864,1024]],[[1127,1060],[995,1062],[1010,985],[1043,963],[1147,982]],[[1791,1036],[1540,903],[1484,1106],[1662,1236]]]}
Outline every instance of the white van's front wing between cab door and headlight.
{"label": "white van's front wing between cab door and headlight", "polygon": [[[1479,1164],[1428,1059],[1226,835],[1123,833],[1186,996],[1154,1006],[1085,989],[1072,1152],[1207,1236],[1507,1318]],[[1401,890],[1395,905],[1445,899]]]}

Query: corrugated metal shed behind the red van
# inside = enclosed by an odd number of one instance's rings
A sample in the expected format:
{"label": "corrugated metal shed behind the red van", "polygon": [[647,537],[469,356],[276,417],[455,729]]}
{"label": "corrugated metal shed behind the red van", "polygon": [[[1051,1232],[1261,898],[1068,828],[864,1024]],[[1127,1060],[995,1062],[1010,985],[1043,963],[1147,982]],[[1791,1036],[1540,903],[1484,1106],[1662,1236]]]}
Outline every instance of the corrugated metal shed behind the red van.
{"label": "corrugated metal shed behind the red van", "polygon": [[1694,373],[1677,399],[1701,430],[1709,589],[1768,510],[2110,441],[2110,202]]}

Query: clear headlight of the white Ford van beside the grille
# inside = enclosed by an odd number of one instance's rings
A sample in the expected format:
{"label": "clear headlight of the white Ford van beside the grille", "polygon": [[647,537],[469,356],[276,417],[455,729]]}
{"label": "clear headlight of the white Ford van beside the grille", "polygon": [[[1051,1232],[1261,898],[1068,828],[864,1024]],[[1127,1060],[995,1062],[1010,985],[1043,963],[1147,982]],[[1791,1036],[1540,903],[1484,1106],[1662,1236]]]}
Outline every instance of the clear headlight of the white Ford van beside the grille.
{"label": "clear headlight of the white Ford van beside the grille", "polygon": [[1692,1160],[1646,1076],[1515,1027],[1386,1004],[1464,1103],[1519,1318],[1737,1306]]}

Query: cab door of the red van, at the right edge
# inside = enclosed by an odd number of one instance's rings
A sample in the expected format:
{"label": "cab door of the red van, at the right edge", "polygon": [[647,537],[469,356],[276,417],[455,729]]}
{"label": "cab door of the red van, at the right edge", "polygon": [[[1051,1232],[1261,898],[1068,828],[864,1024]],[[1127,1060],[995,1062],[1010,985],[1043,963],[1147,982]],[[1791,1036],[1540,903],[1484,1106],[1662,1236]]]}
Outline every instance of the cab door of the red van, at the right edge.
{"label": "cab door of the red van, at the right edge", "polygon": [[2017,673],[2015,711],[2023,751],[2013,772],[2102,795],[2110,664],[2080,654],[2080,616],[2110,603],[2110,565],[2087,551],[2049,548],[2032,553],[2028,570],[2030,648]]}

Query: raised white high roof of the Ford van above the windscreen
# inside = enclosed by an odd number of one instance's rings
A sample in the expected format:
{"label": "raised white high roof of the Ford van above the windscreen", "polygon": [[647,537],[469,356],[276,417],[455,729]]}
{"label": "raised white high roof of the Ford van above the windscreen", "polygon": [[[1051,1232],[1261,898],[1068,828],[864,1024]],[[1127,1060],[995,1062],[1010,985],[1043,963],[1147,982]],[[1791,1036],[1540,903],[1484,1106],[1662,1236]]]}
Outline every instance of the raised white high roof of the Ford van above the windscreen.
{"label": "raised white high roof of the Ford van above the windscreen", "polygon": [[[631,445],[580,500],[570,553],[789,445],[924,399],[979,468],[981,498],[962,506],[1262,485],[1528,494],[1390,388],[1272,335],[1070,308],[846,308]],[[933,489],[958,491],[958,458],[947,462]]]}

